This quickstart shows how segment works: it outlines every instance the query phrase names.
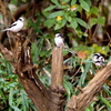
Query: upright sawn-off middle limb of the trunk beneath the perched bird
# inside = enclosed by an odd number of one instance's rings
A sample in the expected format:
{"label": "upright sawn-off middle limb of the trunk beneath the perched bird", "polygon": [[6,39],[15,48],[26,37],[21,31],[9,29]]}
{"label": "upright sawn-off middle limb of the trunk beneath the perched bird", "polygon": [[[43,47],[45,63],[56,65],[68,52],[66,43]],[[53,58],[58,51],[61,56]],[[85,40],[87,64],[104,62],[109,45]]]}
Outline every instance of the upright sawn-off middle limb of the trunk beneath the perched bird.
{"label": "upright sawn-off middle limb of the trunk beneath the perched bird", "polygon": [[53,48],[51,81],[51,89],[63,88],[62,48]]}

